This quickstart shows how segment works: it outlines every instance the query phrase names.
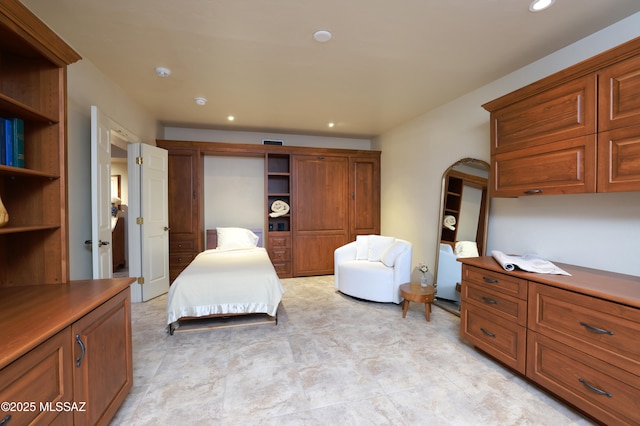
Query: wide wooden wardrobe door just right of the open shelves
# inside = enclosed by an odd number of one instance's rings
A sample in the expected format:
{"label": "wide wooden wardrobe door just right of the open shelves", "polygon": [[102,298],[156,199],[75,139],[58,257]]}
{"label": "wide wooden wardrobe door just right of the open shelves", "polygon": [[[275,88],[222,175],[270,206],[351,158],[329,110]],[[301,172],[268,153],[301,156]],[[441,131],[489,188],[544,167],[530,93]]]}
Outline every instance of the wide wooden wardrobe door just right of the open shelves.
{"label": "wide wooden wardrobe door just right of the open shelves", "polygon": [[333,252],[348,241],[349,158],[293,157],[294,276],[333,274]]}

